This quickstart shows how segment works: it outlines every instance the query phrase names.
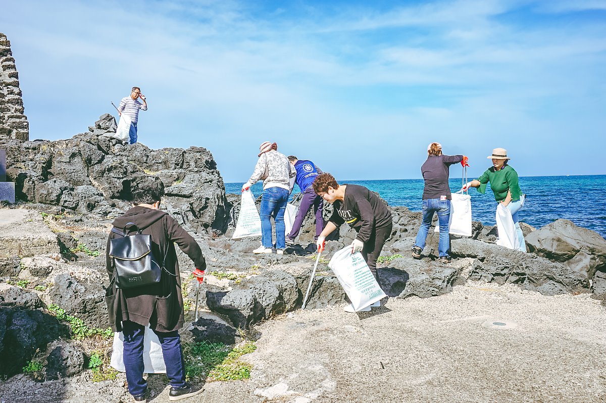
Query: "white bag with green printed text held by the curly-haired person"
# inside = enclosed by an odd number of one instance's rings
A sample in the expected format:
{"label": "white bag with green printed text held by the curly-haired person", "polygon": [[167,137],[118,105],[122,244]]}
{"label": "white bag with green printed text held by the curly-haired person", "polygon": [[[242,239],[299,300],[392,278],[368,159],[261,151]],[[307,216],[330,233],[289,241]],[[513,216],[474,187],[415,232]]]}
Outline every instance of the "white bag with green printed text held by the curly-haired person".
{"label": "white bag with green printed text held by the curly-haired person", "polygon": [[356,311],[387,296],[379,287],[362,254],[351,253],[351,245],[337,251],[328,267],[335,272]]}

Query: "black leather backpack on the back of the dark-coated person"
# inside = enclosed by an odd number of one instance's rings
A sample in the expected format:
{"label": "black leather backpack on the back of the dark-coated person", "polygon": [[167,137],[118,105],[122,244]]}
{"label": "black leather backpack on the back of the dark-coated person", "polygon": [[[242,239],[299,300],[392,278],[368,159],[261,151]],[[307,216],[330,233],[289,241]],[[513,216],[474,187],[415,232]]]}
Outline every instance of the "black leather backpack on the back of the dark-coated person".
{"label": "black leather backpack on the back of the dark-coated person", "polygon": [[[132,231],[135,235],[129,235]],[[116,288],[141,287],[160,282],[166,256],[162,265],[159,265],[151,252],[151,235],[142,234],[134,222],[128,222],[122,231],[113,227],[112,232],[122,236],[110,240],[109,256]],[[168,270],[165,271],[168,273]]]}

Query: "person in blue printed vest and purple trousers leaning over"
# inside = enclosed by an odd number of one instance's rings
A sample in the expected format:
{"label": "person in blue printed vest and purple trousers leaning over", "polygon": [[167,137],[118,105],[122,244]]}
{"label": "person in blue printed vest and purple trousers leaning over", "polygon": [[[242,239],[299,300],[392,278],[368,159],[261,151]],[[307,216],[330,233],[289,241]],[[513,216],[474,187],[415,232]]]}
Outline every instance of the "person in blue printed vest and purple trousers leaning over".
{"label": "person in blue printed vest and purple trousers leaning over", "polygon": [[318,241],[318,236],[320,236],[320,233],[324,229],[324,219],[322,218],[324,201],[320,196],[313,192],[311,183],[313,183],[316,176],[321,174],[322,171],[316,167],[316,164],[313,162],[308,161],[307,159],[298,159],[294,155],[288,156],[288,161],[295,167],[297,172],[295,183],[301,189],[303,197],[301,199],[301,204],[299,205],[299,211],[297,212],[295,222],[293,223],[293,229],[290,231],[290,234],[286,236],[286,244],[295,244],[295,238],[299,235],[303,220],[311,206],[313,206],[313,211],[316,215],[316,236],[314,239]]}

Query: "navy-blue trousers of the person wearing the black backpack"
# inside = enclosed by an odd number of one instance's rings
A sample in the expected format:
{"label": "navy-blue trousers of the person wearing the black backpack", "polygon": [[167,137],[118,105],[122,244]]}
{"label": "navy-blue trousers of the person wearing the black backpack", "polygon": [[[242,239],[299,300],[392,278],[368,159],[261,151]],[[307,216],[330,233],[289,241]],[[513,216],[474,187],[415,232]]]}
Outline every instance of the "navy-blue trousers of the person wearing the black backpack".
{"label": "navy-blue trousers of the person wearing the black backpack", "polygon": [[[154,331],[162,345],[162,356],[166,365],[166,377],[175,389],[187,387],[185,384],[185,364],[181,351],[181,339],[178,331],[162,333]],[[143,335],[145,327],[131,321],[122,322],[124,335],[124,370],[128,382],[128,391],[133,396],[142,396],[147,389],[147,382],[143,379]]]}

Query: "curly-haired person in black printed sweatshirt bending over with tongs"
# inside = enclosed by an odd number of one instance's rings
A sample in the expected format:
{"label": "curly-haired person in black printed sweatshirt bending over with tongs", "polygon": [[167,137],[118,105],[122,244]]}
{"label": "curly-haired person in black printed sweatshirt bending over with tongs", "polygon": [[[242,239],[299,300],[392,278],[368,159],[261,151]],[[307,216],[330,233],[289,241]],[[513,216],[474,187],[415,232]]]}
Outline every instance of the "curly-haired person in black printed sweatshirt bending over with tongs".
{"label": "curly-haired person in black printed sweatshirt bending over with tongs", "polygon": [[[357,251],[362,253],[368,268],[378,281],[377,259],[393,228],[391,211],[387,203],[364,186],[339,185],[330,173],[316,176],[312,186],[316,195],[335,205],[333,215],[316,242],[318,253],[324,250],[326,237],[339,225],[347,222],[358,233],[351,242],[351,253]],[[362,310],[370,311],[371,307],[379,306],[381,306],[380,301]],[[351,304],[345,307],[345,311],[355,312]]]}

